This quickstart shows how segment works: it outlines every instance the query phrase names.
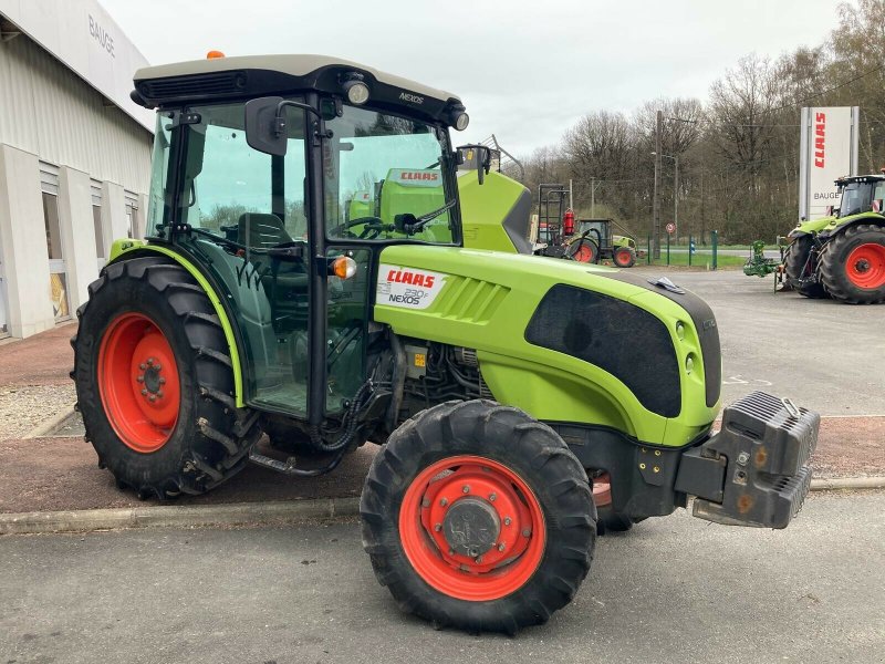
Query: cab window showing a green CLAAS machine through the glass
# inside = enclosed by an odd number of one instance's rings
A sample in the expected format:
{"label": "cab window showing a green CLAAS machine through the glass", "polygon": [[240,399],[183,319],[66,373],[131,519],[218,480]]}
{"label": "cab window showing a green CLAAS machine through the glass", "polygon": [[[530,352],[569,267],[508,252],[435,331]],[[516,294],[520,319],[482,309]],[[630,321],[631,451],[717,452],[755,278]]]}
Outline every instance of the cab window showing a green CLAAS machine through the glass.
{"label": "cab window showing a green CLAAS machine through the glass", "polygon": [[344,106],[326,122],[325,222],[330,239],[451,243],[455,191],[446,135],[421,122]]}

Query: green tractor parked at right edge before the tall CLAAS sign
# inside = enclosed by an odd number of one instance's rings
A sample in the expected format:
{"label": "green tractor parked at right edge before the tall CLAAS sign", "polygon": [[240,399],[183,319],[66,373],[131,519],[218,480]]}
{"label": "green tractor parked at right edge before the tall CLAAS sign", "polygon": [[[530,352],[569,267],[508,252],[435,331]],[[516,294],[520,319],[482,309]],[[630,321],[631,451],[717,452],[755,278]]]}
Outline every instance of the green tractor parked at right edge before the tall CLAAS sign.
{"label": "green tractor parked at right edge before the tall CLAAS sign", "polygon": [[835,184],[842,194],[839,209],[799,224],[788,236],[788,282],[806,298],[885,302],[885,174]]}

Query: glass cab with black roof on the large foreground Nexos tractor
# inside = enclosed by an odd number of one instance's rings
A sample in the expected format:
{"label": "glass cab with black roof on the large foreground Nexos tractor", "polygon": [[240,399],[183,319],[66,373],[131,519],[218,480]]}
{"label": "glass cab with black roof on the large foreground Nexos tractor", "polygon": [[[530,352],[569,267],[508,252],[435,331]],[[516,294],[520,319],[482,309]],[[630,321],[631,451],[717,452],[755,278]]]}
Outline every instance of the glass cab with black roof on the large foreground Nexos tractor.
{"label": "glass cab with black roof on the large foreground Nexos tractor", "polygon": [[[368,377],[389,242],[459,246],[458,97],[346,61],[140,70],[158,108],[147,232],[202,266],[248,349],[244,402],[321,422]],[[281,94],[280,91],[289,91]]]}

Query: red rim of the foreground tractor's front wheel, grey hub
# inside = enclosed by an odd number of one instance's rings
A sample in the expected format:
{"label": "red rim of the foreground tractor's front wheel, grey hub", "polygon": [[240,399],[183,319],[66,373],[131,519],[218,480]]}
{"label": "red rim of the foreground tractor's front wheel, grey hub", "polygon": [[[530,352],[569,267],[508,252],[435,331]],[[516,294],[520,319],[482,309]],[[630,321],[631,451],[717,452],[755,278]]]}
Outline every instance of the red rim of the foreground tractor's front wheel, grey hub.
{"label": "red rim of the foreground tractor's front wheel, grey hub", "polygon": [[[476,557],[452,549],[447,539],[447,533],[456,539],[470,535],[470,521],[451,519],[465,500],[493,512],[499,523],[497,532],[475,535],[493,539],[483,541],[485,550]],[[482,602],[516,592],[534,574],[544,554],[546,525],[541,504],[519,475],[498,461],[460,455],[431,464],[409,485],[399,510],[399,538],[428,585]]]}

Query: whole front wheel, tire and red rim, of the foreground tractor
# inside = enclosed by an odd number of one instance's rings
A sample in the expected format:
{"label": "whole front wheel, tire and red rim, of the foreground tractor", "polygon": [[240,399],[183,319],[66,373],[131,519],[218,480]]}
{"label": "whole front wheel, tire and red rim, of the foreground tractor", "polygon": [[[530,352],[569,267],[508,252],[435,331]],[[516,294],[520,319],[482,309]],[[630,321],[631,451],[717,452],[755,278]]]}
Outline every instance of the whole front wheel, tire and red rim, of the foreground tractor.
{"label": "whole front wheel, tire and red rim, of the foreground tractor", "polygon": [[596,508],[550,427],[488,401],[404,423],[375,457],[360,505],[375,575],[437,626],[514,633],[545,622],[590,570]]}

